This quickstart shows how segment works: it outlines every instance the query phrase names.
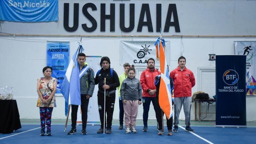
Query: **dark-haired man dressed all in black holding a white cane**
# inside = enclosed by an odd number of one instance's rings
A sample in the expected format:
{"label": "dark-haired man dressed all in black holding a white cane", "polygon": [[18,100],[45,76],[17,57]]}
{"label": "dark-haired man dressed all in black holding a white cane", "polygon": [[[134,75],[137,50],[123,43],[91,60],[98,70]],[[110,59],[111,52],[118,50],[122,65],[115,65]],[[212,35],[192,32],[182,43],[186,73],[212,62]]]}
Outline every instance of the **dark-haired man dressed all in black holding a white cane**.
{"label": "dark-haired man dressed all in black holding a white cane", "polygon": [[[108,57],[101,58],[100,66],[102,68],[97,72],[95,77],[95,85],[99,84],[97,96],[101,122],[101,128],[97,131],[97,133],[105,134],[106,128],[106,134],[111,134],[115,104],[115,90],[118,86],[120,86],[120,82],[117,73],[110,68],[110,59]],[[106,120],[105,114],[107,114]]]}

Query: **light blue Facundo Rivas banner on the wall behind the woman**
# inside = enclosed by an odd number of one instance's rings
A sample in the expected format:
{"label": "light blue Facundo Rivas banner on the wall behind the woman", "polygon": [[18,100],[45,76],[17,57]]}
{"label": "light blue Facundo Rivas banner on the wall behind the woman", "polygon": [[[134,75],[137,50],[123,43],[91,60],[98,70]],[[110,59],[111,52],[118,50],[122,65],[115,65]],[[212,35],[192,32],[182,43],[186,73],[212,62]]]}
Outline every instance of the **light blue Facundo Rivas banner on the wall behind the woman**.
{"label": "light blue Facundo Rivas banner on the wall behind the woman", "polygon": [[57,82],[56,95],[62,95],[60,88],[69,64],[69,42],[47,41],[47,66],[52,67],[52,77]]}

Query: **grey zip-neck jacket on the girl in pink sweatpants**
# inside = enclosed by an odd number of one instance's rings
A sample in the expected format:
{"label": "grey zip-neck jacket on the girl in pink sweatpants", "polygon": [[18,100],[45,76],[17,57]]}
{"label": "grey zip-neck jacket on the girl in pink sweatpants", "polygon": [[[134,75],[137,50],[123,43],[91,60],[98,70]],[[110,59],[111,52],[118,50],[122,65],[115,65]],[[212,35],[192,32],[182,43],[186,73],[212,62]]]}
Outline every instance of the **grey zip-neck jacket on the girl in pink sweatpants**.
{"label": "grey zip-neck jacket on the girl in pink sweatpants", "polygon": [[120,89],[121,99],[123,100],[139,100],[142,99],[141,82],[137,78],[130,79],[127,77],[124,79]]}

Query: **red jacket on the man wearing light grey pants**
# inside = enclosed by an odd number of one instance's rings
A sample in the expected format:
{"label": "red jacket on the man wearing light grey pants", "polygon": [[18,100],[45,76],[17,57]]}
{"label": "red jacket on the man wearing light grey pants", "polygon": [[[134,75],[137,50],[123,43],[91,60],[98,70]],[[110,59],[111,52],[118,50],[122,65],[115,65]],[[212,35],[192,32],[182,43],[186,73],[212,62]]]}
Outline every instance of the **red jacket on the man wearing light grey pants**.
{"label": "red jacket on the man wearing light grey pants", "polygon": [[170,73],[173,78],[174,97],[191,97],[191,88],[195,86],[196,80],[191,70],[186,67],[181,71],[179,66]]}

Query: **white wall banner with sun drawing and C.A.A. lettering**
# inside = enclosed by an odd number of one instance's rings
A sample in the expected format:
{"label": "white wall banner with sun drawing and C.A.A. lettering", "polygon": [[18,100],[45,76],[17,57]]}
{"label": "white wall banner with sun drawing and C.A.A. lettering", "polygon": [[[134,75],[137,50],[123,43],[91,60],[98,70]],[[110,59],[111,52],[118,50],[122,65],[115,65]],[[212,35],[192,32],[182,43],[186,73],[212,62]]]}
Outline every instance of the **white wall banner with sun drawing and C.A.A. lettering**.
{"label": "white wall banner with sun drawing and C.A.A. lettering", "polygon": [[[155,66],[160,66],[160,61],[156,60],[156,47],[154,41],[121,41],[121,61],[120,65],[129,63],[130,65],[146,66],[149,58],[155,59]],[[170,65],[170,42],[165,41],[165,57]]]}

